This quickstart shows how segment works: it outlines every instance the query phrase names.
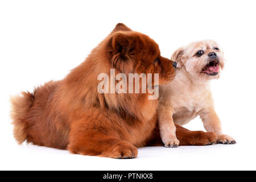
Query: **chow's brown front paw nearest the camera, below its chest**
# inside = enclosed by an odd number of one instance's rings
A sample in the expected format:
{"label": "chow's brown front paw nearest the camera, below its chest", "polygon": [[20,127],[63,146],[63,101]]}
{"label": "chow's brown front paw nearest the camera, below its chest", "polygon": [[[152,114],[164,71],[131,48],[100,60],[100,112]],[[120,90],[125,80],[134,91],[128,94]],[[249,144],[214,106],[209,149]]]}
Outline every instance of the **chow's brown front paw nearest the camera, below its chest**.
{"label": "chow's brown front paw nearest the camera, below its chest", "polygon": [[104,152],[101,156],[114,159],[133,159],[138,155],[138,150],[128,142],[119,142],[113,146],[109,152]]}

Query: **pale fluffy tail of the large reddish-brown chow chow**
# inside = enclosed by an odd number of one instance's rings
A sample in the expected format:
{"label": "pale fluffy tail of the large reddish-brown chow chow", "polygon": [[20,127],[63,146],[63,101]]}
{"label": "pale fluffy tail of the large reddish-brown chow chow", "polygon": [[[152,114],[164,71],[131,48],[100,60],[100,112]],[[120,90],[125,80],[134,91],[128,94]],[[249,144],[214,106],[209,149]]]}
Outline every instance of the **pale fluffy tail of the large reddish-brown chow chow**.
{"label": "pale fluffy tail of the large reddish-brown chow chow", "polygon": [[22,92],[21,96],[12,96],[11,101],[11,118],[14,125],[14,138],[19,144],[27,139],[27,123],[24,121],[30,107],[35,100],[34,94],[30,92]]}

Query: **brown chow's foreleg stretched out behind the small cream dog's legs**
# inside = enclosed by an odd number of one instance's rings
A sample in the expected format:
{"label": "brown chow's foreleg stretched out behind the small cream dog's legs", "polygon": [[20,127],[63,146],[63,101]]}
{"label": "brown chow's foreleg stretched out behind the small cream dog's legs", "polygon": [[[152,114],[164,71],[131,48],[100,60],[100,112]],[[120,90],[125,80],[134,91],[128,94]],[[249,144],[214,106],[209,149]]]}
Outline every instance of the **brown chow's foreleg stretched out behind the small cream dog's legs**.
{"label": "brown chow's foreleg stretched out behind the small cream dog's legs", "polygon": [[[217,135],[213,132],[190,131],[182,126],[176,126],[176,137],[180,141],[180,146],[205,146],[217,141]],[[160,138],[159,128],[156,126],[152,137],[148,140],[147,146],[163,146]]]}

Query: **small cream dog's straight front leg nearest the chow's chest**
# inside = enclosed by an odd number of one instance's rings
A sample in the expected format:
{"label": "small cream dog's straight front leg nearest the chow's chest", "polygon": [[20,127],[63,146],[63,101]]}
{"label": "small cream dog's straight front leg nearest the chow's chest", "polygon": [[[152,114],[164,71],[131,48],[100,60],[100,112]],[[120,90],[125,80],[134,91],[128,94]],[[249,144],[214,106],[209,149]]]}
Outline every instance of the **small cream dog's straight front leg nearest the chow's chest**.
{"label": "small cream dog's straight front leg nearest the chow's chest", "polygon": [[172,119],[173,109],[170,106],[159,105],[159,130],[164,147],[177,147],[180,141],[176,138],[176,127]]}

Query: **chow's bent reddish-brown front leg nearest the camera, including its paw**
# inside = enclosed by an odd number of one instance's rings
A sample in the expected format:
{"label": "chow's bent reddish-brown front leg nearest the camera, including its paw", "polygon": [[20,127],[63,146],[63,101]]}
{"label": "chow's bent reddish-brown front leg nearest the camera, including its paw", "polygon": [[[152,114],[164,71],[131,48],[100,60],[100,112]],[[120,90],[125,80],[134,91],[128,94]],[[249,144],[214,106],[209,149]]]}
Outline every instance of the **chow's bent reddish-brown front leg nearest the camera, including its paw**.
{"label": "chow's bent reddish-brown front leg nearest the camera, including its paw", "polygon": [[68,150],[73,154],[81,155],[117,159],[135,158],[138,154],[137,148],[131,143],[121,140],[115,131],[106,127],[107,122],[105,118],[102,122],[82,119],[73,123]]}

